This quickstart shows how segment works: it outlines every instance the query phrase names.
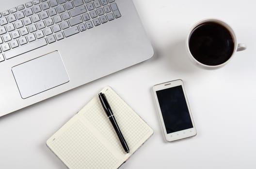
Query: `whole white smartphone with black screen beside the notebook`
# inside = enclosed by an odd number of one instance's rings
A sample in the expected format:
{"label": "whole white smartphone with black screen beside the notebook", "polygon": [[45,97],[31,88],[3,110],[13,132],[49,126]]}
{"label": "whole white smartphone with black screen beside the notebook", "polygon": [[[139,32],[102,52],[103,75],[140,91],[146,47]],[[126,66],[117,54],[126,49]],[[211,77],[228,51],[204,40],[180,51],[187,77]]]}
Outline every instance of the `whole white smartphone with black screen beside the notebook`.
{"label": "whole white smartphone with black screen beside the notebook", "polygon": [[196,135],[189,102],[182,80],[153,86],[154,97],[167,141],[177,141]]}

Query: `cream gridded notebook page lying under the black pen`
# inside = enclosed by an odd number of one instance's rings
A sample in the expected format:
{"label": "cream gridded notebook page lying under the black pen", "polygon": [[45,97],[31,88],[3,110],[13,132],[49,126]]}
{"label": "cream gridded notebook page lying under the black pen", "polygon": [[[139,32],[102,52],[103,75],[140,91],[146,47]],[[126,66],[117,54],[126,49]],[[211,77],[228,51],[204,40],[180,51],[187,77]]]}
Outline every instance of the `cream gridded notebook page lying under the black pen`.
{"label": "cream gridded notebook page lying under the black pen", "polygon": [[[109,101],[113,114],[122,134],[127,141],[131,151],[135,151],[135,146],[148,135],[151,128],[114,92],[108,89],[105,96]],[[110,120],[104,112],[98,97],[94,98],[96,104],[92,104],[85,112],[84,116],[94,127],[117,148],[121,154],[126,154]],[[145,141],[145,140],[144,140]],[[141,146],[141,145],[139,145]]]}

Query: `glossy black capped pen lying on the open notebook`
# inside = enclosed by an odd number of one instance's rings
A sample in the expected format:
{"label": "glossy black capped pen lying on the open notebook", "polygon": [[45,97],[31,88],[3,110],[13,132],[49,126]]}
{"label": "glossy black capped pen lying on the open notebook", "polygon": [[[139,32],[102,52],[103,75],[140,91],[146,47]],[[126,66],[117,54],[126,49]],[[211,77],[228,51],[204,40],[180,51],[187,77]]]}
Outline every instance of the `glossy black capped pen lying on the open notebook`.
{"label": "glossy black capped pen lying on the open notebook", "polygon": [[125,138],[124,138],[123,134],[120,131],[120,128],[117,125],[117,122],[114,118],[114,114],[112,112],[112,109],[111,109],[111,107],[109,105],[109,102],[108,102],[106,96],[104,95],[104,93],[99,93],[99,100],[100,100],[100,102],[102,104],[102,107],[103,107],[104,111],[106,112],[108,118],[110,119],[110,122],[112,123],[112,126],[114,127],[115,132],[116,132],[123,148],[125,149],[126,153],[129,153],[130,152],[129,147],[128,147],[126,141],[125,141]]}

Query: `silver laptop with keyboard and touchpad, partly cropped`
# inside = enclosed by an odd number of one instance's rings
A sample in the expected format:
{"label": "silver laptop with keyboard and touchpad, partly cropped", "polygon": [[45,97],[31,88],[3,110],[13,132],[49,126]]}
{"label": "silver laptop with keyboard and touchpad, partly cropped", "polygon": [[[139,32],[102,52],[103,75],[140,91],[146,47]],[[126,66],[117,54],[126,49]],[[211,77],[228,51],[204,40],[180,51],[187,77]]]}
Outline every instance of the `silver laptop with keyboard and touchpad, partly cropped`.
{"label": "silver laptop with keyboard and touchpad, partly cropped", "polygon": [[132,0],[2,0],[0,116],[153,56]]}

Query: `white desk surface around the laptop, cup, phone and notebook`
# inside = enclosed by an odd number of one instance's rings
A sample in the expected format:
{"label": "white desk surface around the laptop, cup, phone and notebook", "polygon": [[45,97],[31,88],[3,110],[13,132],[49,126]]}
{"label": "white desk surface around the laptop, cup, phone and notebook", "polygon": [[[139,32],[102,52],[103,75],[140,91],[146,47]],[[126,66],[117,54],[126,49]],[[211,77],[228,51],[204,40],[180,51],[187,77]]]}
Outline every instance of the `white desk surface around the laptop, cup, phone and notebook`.
{"label": "white desk surface around the laptop, cup, phone and notebook", "polygon": [[[0,118],[0,169],[65,169],[46,140],[106,85],[155,134],[120,169],[256,168],[256,2],[254,0],[134,0],[155,56],[93,83]],[[229,23],[239,52],[220,70],[202,70],[186,56],[189,28],[203,18]],[[151,87],[185,82],[196,137],[166,143]]]}

